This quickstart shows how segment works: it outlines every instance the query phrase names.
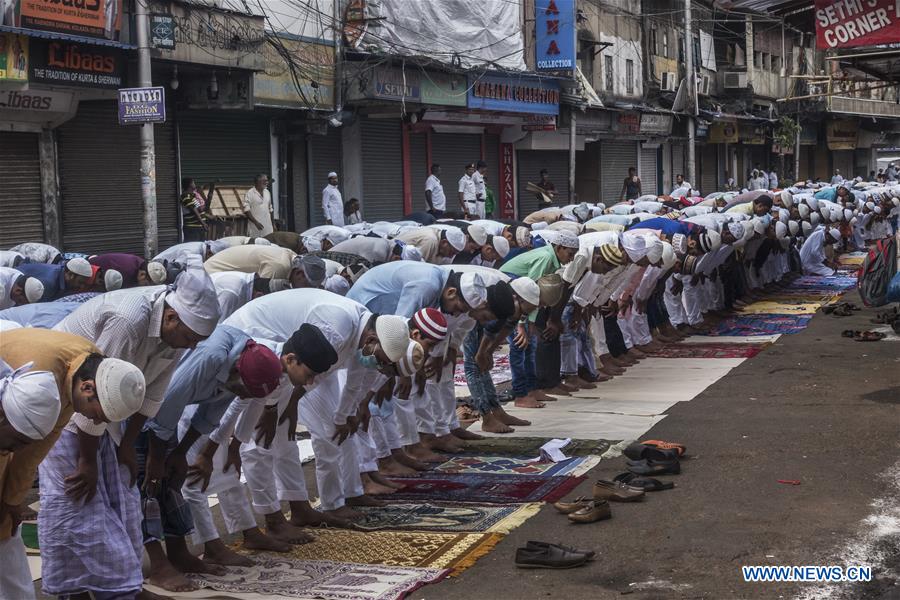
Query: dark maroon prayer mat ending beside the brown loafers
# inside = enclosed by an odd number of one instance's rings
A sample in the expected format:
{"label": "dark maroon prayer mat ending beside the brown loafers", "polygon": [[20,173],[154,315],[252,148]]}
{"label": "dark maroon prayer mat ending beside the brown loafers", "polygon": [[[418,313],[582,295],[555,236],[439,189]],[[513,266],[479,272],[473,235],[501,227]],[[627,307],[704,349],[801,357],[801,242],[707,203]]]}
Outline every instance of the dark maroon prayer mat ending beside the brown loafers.
{"label": "dark maroon prayer mat ending beside the brown loafers", "polygon": [[578,487],[584,477],[540,477],[536,475],[487,475],[463,473],[449,475],[427,473],[421,478],[392,481],[406,487],[385,497],[388,501],[430,502],[452,500],[454,502],[482,502],[509,504],[522,502],[556,502]]}

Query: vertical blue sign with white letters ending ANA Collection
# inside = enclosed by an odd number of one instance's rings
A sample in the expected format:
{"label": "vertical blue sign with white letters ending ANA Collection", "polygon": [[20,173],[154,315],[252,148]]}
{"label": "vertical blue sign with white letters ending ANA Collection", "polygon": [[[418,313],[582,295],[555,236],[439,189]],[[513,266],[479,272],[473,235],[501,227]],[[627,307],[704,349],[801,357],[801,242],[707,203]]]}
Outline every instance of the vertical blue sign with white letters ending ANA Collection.
{"label": "vertical blue sign with white letters ending ANA Collection", "polygon": [[538,71],[575,68],[575,0],[536,0],[534,34]]}

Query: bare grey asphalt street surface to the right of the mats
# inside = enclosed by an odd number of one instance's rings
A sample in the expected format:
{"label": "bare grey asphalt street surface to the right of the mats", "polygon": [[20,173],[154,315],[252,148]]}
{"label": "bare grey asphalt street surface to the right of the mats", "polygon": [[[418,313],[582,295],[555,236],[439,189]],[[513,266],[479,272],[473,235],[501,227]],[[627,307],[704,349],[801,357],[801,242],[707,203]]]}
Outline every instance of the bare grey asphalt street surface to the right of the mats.
{"label": "bare grey asphalt street surface to the right of the mats", "polygon": [[[846,298],[858,303],[855,292]],[[871,328],[874,312],[819,313],[802,333],[669,410],[647,437],[687,444],[682,474],[665,478],[674,490],[614,504],[612,520],[589,525],[570,525],[545,506],[461,577],[413,597],[897,598],[900,343],[840,337]],[[589,495],[592,479],[612,478],[624,464],[604,460],[574,495]],[[599,556],[580,569],[519,570],[513,556],[527,540]],[[854,562],[874,567],[872,584],[826,590],[748,584],[740,574],[742,565]]]}

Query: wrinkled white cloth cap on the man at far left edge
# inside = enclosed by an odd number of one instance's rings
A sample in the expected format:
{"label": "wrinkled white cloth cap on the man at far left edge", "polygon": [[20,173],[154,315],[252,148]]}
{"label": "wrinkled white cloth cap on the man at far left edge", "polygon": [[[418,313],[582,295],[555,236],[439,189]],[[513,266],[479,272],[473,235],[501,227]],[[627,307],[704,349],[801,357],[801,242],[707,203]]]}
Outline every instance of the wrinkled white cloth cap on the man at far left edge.
{"label": "wrinkled white cloth cap on the man at far left edge", "polygon": [[0,406],[6,420],[19,433],[42,440],[53,431],[61,403],[56,377],[49,371],[32,371],[34,363],[16,370],[0,361]]}

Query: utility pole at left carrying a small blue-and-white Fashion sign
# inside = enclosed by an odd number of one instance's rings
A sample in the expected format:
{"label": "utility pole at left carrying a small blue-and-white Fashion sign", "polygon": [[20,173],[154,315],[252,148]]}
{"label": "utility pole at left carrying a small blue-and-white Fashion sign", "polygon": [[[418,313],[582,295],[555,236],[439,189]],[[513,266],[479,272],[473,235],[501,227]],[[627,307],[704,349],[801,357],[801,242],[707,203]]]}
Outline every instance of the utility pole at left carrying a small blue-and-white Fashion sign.
{"label": "utility pole at left carrying a small blue-and-white Fashion sign", "polygon": [[[153,86],[150,71],[150,17],[147,13],[149,0],[135,0],[134,21],[138,43],[138,87]],[[156,256],[159,241],[156,223],[156,148],[153,138],[153,123],[144,123],[141,128],[141,202],[144,208],[144,257]]]}

